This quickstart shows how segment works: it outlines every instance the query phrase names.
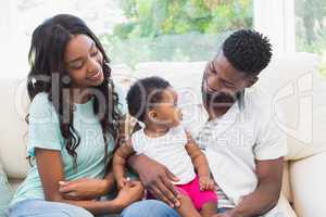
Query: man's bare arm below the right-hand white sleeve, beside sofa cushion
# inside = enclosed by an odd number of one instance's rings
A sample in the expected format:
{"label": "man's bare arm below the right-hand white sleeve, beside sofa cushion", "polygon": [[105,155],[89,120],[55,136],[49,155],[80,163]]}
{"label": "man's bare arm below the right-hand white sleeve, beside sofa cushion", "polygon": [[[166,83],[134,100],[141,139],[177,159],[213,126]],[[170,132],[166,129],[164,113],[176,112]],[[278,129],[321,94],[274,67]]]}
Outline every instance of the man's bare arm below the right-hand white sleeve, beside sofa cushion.
{"label": "man's bare arm below the right-hand white sleeve, beside sofa cushion", "polygon": [[243,196],[242,201],[229,213],[217,216],[260,216],[274,208],[280,194],[283,165],[284,157],[268,161],[256,161],[256,176],[259,184],[255,191]]}

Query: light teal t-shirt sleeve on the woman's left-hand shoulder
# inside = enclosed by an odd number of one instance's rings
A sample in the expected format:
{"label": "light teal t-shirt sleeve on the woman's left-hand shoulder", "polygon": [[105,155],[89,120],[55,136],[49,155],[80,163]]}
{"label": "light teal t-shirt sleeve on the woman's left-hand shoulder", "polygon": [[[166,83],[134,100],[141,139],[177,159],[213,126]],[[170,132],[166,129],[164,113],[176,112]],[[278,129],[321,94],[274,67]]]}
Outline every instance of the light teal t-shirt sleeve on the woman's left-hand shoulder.
{"label": "light teal t-shirt sleeve on the woman's left-hand shoulder", "polygon": [[47,93],[38,93],[32,101],[28,116],[27,152],[35,156],[35,148],[61,151],[61,136],[58,114]]}

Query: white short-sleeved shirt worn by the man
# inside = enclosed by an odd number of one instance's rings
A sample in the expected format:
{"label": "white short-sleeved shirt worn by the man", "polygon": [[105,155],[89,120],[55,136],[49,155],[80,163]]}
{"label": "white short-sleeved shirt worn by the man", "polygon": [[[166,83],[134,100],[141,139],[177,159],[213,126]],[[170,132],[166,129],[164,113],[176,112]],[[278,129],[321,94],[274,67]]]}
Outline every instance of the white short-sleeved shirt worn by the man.
{"label": "white short-sleeved shirt worn by the man", "polygon": [[[237,205],[242,196],[256,189],[255,161],[287,154],[286,136],[275,118],[279,111],[272,98],[262,91],[246,90],[242,102],[235,103],[222,117],[206,122],[195,137],[204,150],[215,181],[227,196],[228,202],[221,205]],[[277,207],[269,214],[274,212]]]}

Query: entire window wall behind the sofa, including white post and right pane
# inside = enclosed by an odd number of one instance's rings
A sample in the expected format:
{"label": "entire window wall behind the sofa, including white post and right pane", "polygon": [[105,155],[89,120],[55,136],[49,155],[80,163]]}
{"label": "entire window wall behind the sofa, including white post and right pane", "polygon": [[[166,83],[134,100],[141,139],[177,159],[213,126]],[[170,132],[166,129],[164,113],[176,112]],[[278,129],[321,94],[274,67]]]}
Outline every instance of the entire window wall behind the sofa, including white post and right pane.
{"label": "entire window wall behind the sofa, including white post and right pane", "polygon": [[[113,64],[135,68],[141,62],[200,62],[237,28],[267,35],[276,54],[314,52],[326,75],[326,0],[11,0],[1,2],[2,48],[13,74],[25,77],[34,28],[58,13],[80,16],[98,34]],[[34,14],[38,14],[35,16]],[[12,44],[12,46],[10,46]]]}

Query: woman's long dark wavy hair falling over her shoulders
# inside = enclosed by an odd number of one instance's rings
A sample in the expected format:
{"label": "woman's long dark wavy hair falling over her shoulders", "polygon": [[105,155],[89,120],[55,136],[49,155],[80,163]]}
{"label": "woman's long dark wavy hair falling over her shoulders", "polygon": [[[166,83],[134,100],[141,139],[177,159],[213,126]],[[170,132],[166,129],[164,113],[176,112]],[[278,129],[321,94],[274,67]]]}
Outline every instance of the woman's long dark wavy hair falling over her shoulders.
{"label": "woman's long dark wavy hair falling over her shoulders", "polygon": [[[103,130],[104,159],[105,164],[108,163],[108,142],[109,139],[116,141],[120,127],[118,97],[114,91],[114,84],[111,79],[110,60],[105,55],[99,39],[80,18],[68,14],[60,14],[47,20],[34,30],[28,53],[30,72],[28,74],[27,91],[30,101],[39,92],[48,93],[48,99],[58,113],[61,133],[65,139],[65,149],[74,158],[74,168],[77,168],[76,149],[80,143],[80,137],[73,126],[73,105],[67,103],[63,97],[63,90],[71,88],[71,81],[66,79],[70,77],[64,62],[64,52],[74,35],[90,37],[103,55],[104,80],[95,88],[103,94],[104,101],[99,102],[99,99],[95,98],[93,111],[98,115]],[[101,115],[99,114],[100,111],[104,113]],[[26,120],[28,123],[28,115]],[[112,138],[110,138],[110,135]]]}

